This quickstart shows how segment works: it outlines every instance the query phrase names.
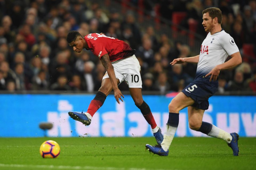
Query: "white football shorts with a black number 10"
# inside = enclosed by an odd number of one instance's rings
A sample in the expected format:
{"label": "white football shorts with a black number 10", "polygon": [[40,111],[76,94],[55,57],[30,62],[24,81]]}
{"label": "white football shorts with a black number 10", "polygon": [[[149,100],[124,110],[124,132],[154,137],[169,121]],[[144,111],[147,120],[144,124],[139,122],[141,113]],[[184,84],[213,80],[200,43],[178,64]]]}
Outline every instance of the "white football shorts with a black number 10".
{"label": "white football shorts with a black number 10", "polygon": [[[114,67],[115,77],[119,79],[120,83],[126,81],[129,88],[142,88],[141,74],[139,73],[141,66],[135,55],[113,62],[112,65]],[[109,78],[107,72],[102,80],[105,78]]]}

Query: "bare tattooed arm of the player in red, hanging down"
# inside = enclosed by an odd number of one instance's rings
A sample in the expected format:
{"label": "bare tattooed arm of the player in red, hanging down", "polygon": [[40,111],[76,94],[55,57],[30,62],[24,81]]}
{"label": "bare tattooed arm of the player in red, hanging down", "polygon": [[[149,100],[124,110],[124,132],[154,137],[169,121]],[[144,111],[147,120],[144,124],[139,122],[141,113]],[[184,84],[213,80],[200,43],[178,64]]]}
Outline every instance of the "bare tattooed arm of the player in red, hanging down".
{"label": "bare tattooed arm of the player in red, hanging down", "polygon": [[117,86],[117,80],[115,77],[115,72],[114,72],[114,67],[110,62],[109,59],[109,54],[104,54],[101,57],[101,63],[102,65],[106,68],[107,70],[107,74],[109,75],[113,90],[114,90],[114,96],[115,96],[115,100],[117,100],[117,103],[120,104],[120,101],[123,101],[123,99],[121,98],[121,96],[124,98],[123,94],[121,93],[121,91],[119,90],[118,86]]}

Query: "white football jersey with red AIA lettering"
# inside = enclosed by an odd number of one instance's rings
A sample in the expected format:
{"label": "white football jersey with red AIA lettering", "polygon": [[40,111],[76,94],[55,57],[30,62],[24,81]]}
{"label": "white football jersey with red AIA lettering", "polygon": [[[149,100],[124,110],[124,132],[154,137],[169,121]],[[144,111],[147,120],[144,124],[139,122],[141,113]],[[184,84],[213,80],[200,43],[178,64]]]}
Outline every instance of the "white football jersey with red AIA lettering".
{"label": "white football jersey with red AIA lettering", "polygon": [[223,29],[213,35],[209,32],[201,45],[196,79],[208,74],[215,66],[224,63],[228,56],[236,52],[239,52],[239,49],[234,39]]}

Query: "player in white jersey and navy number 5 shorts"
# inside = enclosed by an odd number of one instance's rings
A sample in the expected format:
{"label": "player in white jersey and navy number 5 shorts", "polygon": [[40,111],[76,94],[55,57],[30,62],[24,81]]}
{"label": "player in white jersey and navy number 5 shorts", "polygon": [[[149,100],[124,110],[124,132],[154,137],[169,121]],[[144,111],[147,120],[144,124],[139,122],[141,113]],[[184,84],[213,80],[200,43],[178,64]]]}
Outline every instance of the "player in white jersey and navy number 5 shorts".
{"label": "player in white jersey and navy number 5 shorts", "polygon": [[[188,110],[189,128],[215,138],[223,139],[232,148],[233,155],[238,156],[237,133],[228,133],[208,122],[203,122],[203,113],[209,107],[208,99],[218,89],[218,75],[221,70],[230,69],[242,63],[242,58],[234,39],[221,28],[222,13],[219,8],[211,7],[202,11],[202,25],[209,32],[201,45],[200,54],[194,57],[177,58],[170,64],[185,62],[198,63],[196,77],[182,92],[171,100],[169,119],[161,145],[146,148],[154,154],[167,156],[169,147],[179,124],[179,111]],[[225,60],[230,56],[231,59]]]}

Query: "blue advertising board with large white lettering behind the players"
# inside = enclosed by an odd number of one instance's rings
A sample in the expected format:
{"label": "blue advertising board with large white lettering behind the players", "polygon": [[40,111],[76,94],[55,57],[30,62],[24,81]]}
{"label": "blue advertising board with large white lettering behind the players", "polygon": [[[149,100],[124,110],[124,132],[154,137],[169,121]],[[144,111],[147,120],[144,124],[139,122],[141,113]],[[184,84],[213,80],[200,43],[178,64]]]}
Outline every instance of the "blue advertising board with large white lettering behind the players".
{"label": "blue advertising board with large white lettering behind the players", "polygon": [[[129,95],[118,104],[109,95],[103,106],[94,114],[89,126],[74,121],[69,111],[86,112],[95,95],[60,94],[1,94],[0,137],[42,137],[41,122],[53,123],[47,131],[52,137],[75,136],[152,136],[140,110]],[[144,95],[157,125],[165,131],[168,104],[172,97]],[[256,96],[213,96],[203,121],[210,122],[227,132],[237,132],[243,137],[256,136]],[[175,136],[206,136],[189,129],[187,108],[180,111],[179,126]]]}

